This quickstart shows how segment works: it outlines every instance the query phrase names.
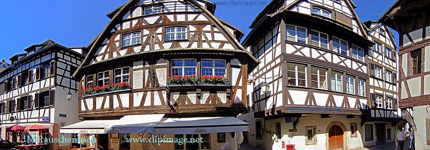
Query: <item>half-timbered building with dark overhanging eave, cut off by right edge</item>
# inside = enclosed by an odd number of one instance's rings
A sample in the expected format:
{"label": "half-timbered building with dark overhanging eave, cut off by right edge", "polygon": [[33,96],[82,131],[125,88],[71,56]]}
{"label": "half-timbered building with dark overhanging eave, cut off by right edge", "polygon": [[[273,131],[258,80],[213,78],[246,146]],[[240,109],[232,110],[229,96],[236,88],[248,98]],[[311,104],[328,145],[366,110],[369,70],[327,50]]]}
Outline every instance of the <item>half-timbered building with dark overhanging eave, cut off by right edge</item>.
{"label": "half-timbered building with dark overhanging eave, cut off by right edge", "polygon": [[415,129],[416,149],[430,148],[428,0],[396,0],[379,19],[399,34],[399,108]]}

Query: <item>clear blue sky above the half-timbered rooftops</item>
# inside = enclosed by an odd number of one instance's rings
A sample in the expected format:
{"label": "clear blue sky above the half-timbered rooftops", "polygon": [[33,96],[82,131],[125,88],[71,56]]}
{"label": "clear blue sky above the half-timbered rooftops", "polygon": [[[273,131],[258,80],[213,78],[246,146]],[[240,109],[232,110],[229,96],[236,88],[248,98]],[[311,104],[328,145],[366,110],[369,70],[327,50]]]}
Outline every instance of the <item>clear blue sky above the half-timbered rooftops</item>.
{"label": "clear blue sky above the half-timbered rooftops", "polygon": [[[262,4],[252,6],[218,4],[215,15],[242,29],[246,36],[250,31],[248,26],[251,21],[270,2],[270,0],[250,1],[260,1]],[[358,6],[355,11],[363,22],[378,19],[394,2],[394,0],[353,1]],[[1,0],[0,60],[8,61],[12,55],[24,52],[24,48],[46,39],[64,46],[86,46],[109,21],[106,14],[125,2],[125,0]],[[398,40],[397,33],[395,31],[393,33]]]}

